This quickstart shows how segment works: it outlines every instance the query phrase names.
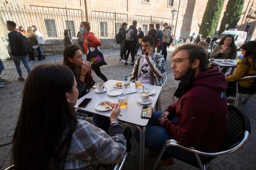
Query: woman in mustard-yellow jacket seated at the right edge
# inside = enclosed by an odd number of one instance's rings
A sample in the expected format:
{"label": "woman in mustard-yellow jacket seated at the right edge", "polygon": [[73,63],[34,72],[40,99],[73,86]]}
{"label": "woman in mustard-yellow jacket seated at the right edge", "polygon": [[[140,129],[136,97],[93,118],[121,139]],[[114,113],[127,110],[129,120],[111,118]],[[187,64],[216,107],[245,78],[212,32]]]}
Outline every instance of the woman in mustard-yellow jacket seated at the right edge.
{"label": "woman in mustard-yellow jacket seated at the right edge", "polygon": [[236,81],[238,81],[238,91],[243,93],[248,90],[255,79],[241,78],[256,75],[256,41],[246,42],[241,46],[241,49],[244,59],[237,63],[234,73],[226,77],[228,81],[228,89],[226,90],[227,95],[236,95]]}

